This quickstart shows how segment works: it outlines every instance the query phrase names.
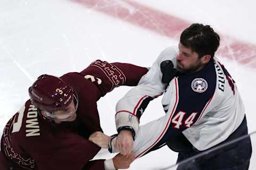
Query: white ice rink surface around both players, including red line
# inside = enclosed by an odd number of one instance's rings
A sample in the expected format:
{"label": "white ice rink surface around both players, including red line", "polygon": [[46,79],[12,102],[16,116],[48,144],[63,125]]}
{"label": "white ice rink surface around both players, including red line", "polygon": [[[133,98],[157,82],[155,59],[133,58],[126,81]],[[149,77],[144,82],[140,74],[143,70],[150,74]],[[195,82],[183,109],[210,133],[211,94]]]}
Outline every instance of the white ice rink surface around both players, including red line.
{"label": "white ice rink surface around both players, including red line", "polygon": [[[153,0],[1,0],[0,130],[29,98],[28,87],[43,74],[82,71],[94,60],[150,66],[161,50],[178,45],[191,23],[210,24],[221,35],[218,58],[236,81],[249,132],[256,130],[256,23],[254,1]],[[114,134],[115,104],[130,88],[119,87],[100,99],[103,131]],[[86,89],[85,89],[86,90]],[[141,124],[164,115],[161,98],[151,101]],[[250,169],[256,169],[252,137]],[[101,150],[95,158],[114,155]],[[175,164],[167,147],[135,160],[129,169]]]}

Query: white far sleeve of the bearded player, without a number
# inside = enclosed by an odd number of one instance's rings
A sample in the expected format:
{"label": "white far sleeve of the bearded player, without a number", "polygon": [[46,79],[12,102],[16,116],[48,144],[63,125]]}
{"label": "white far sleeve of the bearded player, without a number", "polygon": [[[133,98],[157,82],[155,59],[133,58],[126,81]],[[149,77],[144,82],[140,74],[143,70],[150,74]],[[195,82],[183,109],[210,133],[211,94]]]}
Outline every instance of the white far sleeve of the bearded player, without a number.
{"label": "white far sleeve of the bearded player, without a number", "polygon": [[117,130],[130,126],[135,133],[138,131],[139,119],[147,105],[154,98],[161,96],[167,86],[167,83],[162,83],[161,62],[173,60],[177,54],[177,50],[172,47],[163,50],[147,74],[143,75],[138,86],[118,101],[115,115]]}

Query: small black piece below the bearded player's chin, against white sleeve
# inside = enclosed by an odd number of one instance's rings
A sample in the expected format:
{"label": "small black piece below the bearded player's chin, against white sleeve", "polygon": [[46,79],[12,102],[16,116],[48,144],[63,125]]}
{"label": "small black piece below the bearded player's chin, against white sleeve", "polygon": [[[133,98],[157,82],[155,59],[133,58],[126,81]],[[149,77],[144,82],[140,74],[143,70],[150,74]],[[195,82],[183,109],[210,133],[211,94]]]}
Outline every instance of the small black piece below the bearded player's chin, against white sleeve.
{"label": "small black piece below the bearded player's chin, against white sleeve", "polygon": [[163,73],[163,77],[162,77],[163,83],[170,83],[170,81],[179,73],[179,71],[174,68],[174,65],[171,60],[163,61],[160,67]]}

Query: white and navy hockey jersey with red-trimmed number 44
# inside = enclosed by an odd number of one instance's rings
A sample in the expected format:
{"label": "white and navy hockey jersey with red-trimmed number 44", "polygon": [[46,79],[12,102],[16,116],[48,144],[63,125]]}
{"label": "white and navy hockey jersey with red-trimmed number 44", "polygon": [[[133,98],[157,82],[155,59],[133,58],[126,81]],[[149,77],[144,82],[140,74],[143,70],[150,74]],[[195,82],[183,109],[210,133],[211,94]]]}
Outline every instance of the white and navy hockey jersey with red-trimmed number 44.
{"label": "white and navy hockey jersey with red-trimmed number 44", "polygon": [[[176,66],[177,55],[174,47],[163,50],[139,85],[116,105],[117,128],[132,126],[136,132],[133,152],[137,157],[180,133],[196,149],[209,149],[226,140],[243,121],[245,110],[235,81],[215,57],[196,73],[162,83],[160,64],[171,60]],[[149,101],[161,94],[166,115],[139,126]]]}

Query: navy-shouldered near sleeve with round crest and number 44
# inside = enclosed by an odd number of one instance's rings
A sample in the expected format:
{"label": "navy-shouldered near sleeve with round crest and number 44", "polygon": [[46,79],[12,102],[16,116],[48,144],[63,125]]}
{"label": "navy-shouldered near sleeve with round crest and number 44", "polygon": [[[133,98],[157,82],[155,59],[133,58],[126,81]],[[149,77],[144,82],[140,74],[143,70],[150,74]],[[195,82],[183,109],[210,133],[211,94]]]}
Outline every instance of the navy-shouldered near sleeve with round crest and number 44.
{"label": "navy-shouldered near sleeve with round crest and number 44", "polygon": [[[219,101],[213,102],[216,89],[216,74],[207,72],[195,77],[174,78],[167,88],[163,101],[169,103],[166,115],[158,120],[139,126],[134,141],[136,158],[153,151],[176,135],[197,126],[203,116],[218,107]],[[110,148],[116,151],[115,138]]]}

